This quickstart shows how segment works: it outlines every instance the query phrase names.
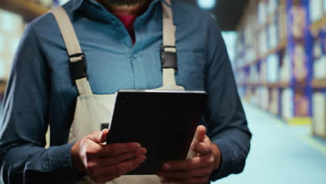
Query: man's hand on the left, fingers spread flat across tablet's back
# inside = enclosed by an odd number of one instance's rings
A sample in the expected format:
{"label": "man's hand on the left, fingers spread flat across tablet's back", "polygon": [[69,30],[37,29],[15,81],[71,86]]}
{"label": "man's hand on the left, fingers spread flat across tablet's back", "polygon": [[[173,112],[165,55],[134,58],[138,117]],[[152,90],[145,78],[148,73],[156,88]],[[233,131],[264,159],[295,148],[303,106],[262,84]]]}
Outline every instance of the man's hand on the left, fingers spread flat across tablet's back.
{"label": "man's hand on the left, fingers spread flat across tablet's back", "polygon": [[138,143],[108,144],[109,130],[93,132],[71,148],[72,164],[79,174],[104,183],[139,167],[146,160],[146,149]]}

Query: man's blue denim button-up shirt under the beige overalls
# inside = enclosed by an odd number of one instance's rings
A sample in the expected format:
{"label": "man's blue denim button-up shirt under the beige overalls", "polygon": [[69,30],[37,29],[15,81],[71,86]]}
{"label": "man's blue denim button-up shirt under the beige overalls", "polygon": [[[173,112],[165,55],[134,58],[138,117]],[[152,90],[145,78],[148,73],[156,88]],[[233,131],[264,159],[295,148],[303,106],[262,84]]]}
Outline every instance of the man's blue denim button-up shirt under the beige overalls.
{"label": "man's blue denim button-up shirt under the beige overalls", "polygon": [[[99,3],[72,0],[63,7],[86,55],[93,93],[162,86],[160,0],[152,1],[134,22],[134,45],[123,24]],[[222,152],[222,165],[211,179],[239,173],[251,133],[221,33],[208,13],[176,0],[172,8],[178,49],[176,82],[187,90],[208,92],[201,123]],[[80,180],[71,163],[72,144],[67,144],[77,95],[61,32],[47,13],[24,31],[8,80],[0,125],[3,183]],[[48,125],[50,148],[44,148]]]}

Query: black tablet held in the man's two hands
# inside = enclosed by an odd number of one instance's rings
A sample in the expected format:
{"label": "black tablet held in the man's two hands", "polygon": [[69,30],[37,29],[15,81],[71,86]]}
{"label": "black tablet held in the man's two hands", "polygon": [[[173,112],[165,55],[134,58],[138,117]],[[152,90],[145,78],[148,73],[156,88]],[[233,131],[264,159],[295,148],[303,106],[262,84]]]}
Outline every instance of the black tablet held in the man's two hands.
{"label": "black tablet held in the man's two hands", "polygon": [[139,142],[147,159],[129,174],[157,174],[162,162],[186,158],[206,98],[205,91],[120,90],[107,144]]}

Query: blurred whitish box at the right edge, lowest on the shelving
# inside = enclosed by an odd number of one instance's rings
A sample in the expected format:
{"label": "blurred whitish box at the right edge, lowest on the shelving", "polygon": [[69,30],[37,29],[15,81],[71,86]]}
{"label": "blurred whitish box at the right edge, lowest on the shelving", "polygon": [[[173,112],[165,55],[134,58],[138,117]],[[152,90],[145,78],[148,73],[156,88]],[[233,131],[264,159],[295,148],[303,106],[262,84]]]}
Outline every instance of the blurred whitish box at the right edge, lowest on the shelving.
{"label": "blurred whitish box at the right edge, lowest on the shelving", "polygon": [[326,138],[326,95],[313,94],[313,133]]}

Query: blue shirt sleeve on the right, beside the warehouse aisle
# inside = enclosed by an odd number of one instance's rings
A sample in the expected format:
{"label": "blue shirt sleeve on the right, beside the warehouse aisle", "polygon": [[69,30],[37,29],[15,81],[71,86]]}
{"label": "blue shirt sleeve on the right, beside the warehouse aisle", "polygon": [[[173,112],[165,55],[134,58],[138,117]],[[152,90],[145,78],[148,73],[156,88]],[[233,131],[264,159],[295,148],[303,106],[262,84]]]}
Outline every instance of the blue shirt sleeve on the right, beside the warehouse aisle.
{"label": "blue shirt sleeve on the right, beside the warehouse aisle", "polygon": [[205,89],[208,102],[204,115],[209,137],[222,153],[221,167],[210,178],[216,181],[242,172],[249,153],[251,133],[221,31],[212,19],[208,30],[207,58]]}

